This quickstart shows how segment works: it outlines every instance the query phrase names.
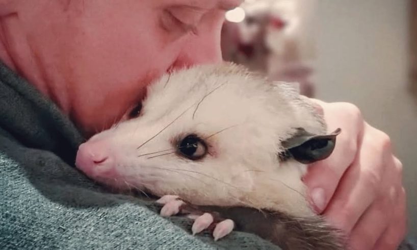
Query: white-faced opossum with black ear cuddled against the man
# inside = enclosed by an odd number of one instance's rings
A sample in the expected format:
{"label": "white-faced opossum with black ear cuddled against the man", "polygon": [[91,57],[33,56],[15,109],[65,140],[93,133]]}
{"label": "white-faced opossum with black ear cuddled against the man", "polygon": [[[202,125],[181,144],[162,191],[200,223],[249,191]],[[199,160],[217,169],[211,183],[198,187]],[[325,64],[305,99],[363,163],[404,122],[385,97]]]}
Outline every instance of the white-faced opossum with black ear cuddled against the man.
{"label": "white-faced opossum with black ear cuddled against the man", "polygon": [[76,166],[117,189],[179,197],[174,210],[229,217],[284,249],[342,249],[301,180],[338,133],[294,84],[232,63],[200,65],[152,83],[122,122],[80,146]]}

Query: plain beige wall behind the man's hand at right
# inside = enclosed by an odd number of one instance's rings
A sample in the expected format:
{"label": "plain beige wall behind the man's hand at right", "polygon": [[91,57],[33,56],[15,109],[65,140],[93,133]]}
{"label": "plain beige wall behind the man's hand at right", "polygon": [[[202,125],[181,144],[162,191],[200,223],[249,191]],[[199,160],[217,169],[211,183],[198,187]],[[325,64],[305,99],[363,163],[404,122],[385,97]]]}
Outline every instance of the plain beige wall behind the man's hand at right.
{"label": "plain beige wall behind the man's hand at right", "polygon": [[417,102],[407,91],[408,1],[320,0],[318,97],[356,104],[393,140],[417,236]]}

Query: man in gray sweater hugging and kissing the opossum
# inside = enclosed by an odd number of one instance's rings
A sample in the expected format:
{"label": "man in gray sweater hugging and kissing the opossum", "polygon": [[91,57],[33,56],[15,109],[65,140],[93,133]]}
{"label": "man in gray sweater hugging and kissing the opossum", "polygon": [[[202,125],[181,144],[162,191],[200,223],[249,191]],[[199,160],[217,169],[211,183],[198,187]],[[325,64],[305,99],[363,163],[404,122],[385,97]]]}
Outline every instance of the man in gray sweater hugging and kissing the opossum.
{"label": "man in gray sweater hugging and kissing the opossum", "polygon": [[[0,0],[0,59],[7,66],[0,70],[0,246],[268,248],[245,234],[217,245],[192,237],[176,230],[188,230],[186,221],[169,223],[149,203],[106,193],[73,168],[81,134],[88,138],[123,119],[153,79],[221,61],[224,13],[239,4]],[[402,165],[389,137],[351,104],[317,103],[329,129],[343,133],[333,155],[304,180],[311,204],[353,248],[394,249],[405,235],[406,212]]]}

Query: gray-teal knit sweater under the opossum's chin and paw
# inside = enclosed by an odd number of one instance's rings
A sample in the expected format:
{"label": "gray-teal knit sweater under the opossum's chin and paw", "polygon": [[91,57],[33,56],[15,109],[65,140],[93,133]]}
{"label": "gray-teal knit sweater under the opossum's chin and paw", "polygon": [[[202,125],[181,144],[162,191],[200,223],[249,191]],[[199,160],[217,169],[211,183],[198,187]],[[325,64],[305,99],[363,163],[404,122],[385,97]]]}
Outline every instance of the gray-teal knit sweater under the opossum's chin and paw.
{"label": "gray-teal knit sweater under the opossum's chin and paw", "polygon": [[278,249],[243,232],[194,237],[189,219],[162,218],[151,201],[107,192],[74,168],[83,140],[0,62],[0,249]]}

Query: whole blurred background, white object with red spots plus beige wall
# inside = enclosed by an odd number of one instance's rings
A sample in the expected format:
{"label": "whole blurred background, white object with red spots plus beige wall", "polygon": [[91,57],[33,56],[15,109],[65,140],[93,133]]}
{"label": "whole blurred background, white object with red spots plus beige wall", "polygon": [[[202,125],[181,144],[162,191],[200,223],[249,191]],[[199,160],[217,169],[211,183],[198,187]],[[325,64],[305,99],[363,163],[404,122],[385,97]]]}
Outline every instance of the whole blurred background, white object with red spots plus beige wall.
{"label": "whole blurred background, white object with red spots plus beige wall", "polygon": [[246,0],[226,13],[223,59],[302,94],[350,102],[392,139],[417,236],[417,1]]}

